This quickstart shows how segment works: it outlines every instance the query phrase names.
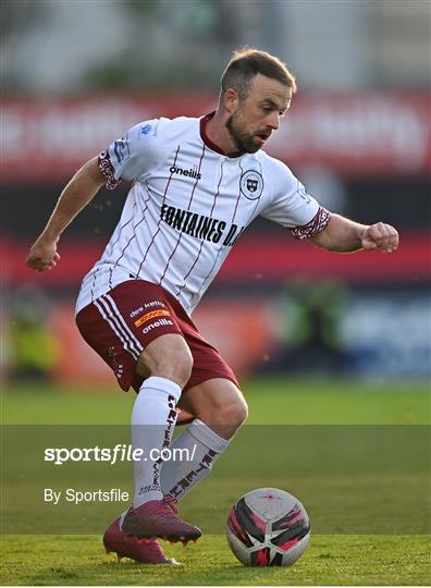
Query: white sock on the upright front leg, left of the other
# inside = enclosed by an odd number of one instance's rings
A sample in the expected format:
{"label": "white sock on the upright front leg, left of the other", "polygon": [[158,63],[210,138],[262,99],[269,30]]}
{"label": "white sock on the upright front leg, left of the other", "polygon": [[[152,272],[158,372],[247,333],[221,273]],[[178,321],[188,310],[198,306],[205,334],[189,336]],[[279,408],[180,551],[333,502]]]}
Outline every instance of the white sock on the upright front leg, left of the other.
{"label": "white sock on the upright front leg, left of the other", "polygon": [[132,412],[132,448],[134,451],[144,450],[144,454],[139,461],[133,462],[135,509],[150,500],[163,498],[160,489],[160,470],[163,462],[151,461],[150,451],[160,452],[170,446],[176,422],[175,406],[180,396],[178,384],[156,376],[145,380],[136,396]]}

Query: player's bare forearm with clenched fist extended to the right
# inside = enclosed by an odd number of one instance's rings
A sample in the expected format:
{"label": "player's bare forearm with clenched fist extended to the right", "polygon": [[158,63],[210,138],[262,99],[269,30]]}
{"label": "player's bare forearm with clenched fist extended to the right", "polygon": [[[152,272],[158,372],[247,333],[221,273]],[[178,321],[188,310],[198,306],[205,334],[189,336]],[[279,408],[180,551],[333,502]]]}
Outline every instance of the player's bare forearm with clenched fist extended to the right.
{"label": "player's bare forearm with clenched fist extended to the right", "polygon": [[398,248],[396,229],[384,222],[360,224],[340,215],[332,215],[328,226],[311,237],[312,243],[330,252],[349,253],[359,249],[380,249],[393,253]]}

